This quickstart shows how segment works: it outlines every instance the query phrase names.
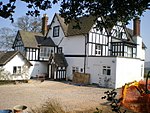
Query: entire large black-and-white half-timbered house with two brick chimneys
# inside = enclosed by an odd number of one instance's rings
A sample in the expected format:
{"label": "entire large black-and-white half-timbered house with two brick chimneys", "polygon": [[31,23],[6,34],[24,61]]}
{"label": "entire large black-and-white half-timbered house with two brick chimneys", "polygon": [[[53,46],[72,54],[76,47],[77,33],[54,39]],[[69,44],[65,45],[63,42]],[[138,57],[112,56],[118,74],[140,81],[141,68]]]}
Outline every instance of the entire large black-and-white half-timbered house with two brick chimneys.
{"label": "entire large black-and-white half-timbered house with two brick chimneys", "polygon": [[76,23],[64,23],[55,14],[49,29],[44,15],[42,33],[18,31],[13,48],[32,62],[31,75],[48,73],[51,79],[72,79],[74,72],[89,73],[90,83],[118,88],[125,83],[143,79],[145,45],[140,36],[140,20],[134,29],[121,23],[97,30],[95,17],[81,17]]}

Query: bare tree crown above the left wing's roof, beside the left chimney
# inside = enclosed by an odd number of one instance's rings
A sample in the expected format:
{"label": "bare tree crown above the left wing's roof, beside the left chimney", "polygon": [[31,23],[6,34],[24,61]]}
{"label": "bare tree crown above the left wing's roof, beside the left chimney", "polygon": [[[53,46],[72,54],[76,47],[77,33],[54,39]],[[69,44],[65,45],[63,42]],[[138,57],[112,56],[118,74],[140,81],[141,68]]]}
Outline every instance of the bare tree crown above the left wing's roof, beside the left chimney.
{"label": "bare tree crown above the left wing's roof, beside the left chimney", "polygon": [[41,32],[42,21],[40,17],[22,16],[13,26],[24,31]]}

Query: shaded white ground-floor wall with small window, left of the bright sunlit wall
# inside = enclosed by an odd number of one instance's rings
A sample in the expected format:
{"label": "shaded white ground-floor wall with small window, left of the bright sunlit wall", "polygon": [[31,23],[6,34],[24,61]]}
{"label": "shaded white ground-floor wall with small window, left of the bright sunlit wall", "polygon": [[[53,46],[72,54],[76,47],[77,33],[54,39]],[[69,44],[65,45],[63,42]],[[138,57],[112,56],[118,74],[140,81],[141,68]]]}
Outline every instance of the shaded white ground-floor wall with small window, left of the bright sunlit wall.
{"label": "shaded white ground-floor wall with small window, left of the bright sunlit wall", "polygon": [[[115,57],[88,57],[86,73],[91,74],[91,83],[99,84],[101,87],[115,87],[116,75]],[[103,66],[109,66],[111,75],[103,75]],[[108,80],[108,82],[106,82]]]}

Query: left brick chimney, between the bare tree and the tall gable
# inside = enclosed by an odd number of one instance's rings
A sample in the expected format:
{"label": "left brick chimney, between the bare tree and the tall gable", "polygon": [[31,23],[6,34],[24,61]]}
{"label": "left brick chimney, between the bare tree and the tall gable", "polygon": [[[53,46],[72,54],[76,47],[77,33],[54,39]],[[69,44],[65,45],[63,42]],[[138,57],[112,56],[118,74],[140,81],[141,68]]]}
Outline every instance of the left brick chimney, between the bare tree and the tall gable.
{"label": "left brick chimney, between the bare tree and the tall gable", "polygon": [[47,24],[48,24],[48,16],[44,14],[42,17],[42,34],[44,36],[46,35],[47,30],[48,30]]}

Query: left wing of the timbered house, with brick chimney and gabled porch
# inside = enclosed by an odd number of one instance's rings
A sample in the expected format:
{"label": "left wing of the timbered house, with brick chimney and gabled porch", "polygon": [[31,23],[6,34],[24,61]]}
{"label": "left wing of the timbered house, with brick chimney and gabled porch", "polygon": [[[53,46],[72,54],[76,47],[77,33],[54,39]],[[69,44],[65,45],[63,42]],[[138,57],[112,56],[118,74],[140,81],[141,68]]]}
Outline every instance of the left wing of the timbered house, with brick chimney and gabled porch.
{"label": "left wing of the timbered house, with brick chimney and gabled porch", "polygon": [[[61,65],[60,63],[57,63],[58,65],[56,65],[56,69],[54,69],[56,73],[55,78],[48,75],[48,73],[51,72],[50,66],[52,64],[49,62],[51,54],[62,53],[61,48],[58,48],[50,37],[45,36],[47,32],[47,19],[47,15],[44,15],[42,18],[42,33],[19,30],[13,44],[13,49],[15,51],[20,51],[27,58],[27,60],[33,64],[30,68],[30,75],[32,77],[46,75],[46,77],[52,79],[65,79],[67,67],[65,63],[64,65],[62,63]],[[57,58],[55,58],[55,56],[57,56]],[[55,56],[53,57],[54,59],[59,59],[61,55]],[[61,57],[62,60],[63,58]]]}

